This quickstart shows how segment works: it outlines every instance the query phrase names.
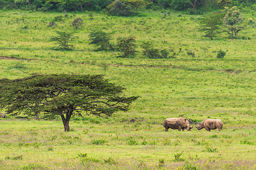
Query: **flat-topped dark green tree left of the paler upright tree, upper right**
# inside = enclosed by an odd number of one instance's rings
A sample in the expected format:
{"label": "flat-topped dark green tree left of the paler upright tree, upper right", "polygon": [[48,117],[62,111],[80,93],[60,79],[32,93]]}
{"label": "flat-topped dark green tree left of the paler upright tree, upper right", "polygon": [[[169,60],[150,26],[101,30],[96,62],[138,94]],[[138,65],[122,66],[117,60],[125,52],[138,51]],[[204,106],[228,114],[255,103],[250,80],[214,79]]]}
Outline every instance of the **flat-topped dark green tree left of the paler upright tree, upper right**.
{"label": "flat-topped dark green tree left of the paler upright tree, upper right", "polygon": [[199,31],[205,33],[204,37],[210,37],[212,40],[213,37],[222,32],[221,25],[224,15],[224,12],[216,12],[199,20]]}

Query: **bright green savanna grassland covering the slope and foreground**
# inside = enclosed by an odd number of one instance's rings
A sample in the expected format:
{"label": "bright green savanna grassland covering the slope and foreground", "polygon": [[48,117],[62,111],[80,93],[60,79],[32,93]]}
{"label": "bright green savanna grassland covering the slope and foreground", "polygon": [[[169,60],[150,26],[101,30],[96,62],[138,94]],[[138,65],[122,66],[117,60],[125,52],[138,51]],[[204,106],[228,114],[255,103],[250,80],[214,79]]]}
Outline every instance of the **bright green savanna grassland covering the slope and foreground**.
{"label": "bright green savanna grassland covering the slope and foreground", "polygon": [[[109,118],[72,117],[68,133],[60,117],[36,121],[6,115],[0,119],[0,169],[256,168],[255,27],[243,29],[236,40],[226,33],[210,40],[197,29],[200,15],[67,14],[1,11],[0,78],[104,74],[125,87],[126,95],[140,97],[129,112]],[[243,16],[246,21],[255,11]],[[85,24],[74,29],[71,21],[77,17]],[[49,22],[57,25],[49,27]],[[113,43],[134,36],[137,54],[120,58],[117,51],[96,52],[89,44],[89,33],[96,29],[112,32]],[[54,49],[49,37],[55,31],[75,31],[75,48]],[[144,57],[140,45],[146,40],[174,57]],[[216,57],[219,50],[226,52],[223,59]],[[163,121],[180,116],[199,122],[220,118],[224,128],[164,132]]]}

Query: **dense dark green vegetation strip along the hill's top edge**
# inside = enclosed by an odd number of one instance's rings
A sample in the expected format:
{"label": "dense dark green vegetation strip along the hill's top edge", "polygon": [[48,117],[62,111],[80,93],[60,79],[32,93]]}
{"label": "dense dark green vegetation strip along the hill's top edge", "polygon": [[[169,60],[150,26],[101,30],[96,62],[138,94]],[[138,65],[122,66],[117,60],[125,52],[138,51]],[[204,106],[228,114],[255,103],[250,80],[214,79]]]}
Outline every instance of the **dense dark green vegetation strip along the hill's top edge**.
{"label": "dense dark green vegetation strip along the hill's top edge", "polygon": [[143,9],[170,9],[186,11],[189,14],[203,14],[222,9],[224,6],[238,6],[255,10],[254,0],[1,0],[0,7],[36,11],[102,11],[113,15],[134,15]]}

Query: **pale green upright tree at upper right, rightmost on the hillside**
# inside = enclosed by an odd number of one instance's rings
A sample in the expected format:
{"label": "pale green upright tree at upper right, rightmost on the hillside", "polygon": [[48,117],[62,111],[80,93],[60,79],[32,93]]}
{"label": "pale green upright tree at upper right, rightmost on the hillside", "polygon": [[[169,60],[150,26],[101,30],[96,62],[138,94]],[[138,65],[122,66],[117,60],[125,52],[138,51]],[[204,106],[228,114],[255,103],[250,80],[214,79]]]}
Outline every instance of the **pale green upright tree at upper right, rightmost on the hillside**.
{"label": "pale green upright tree at upper right, rightmost on the hillside", "polygon": [[225,7],[226,15],[223,18],[225,32],[227,32],[232,39],[236,39],[238,32],[240,32],[245,26],[243,25],[243,16],[240,10],[236,10],[236,6],[229,8]]}

